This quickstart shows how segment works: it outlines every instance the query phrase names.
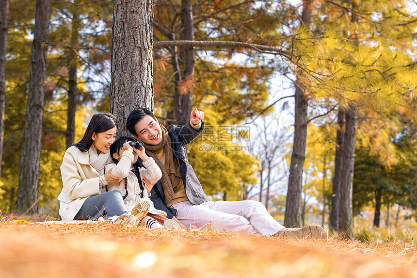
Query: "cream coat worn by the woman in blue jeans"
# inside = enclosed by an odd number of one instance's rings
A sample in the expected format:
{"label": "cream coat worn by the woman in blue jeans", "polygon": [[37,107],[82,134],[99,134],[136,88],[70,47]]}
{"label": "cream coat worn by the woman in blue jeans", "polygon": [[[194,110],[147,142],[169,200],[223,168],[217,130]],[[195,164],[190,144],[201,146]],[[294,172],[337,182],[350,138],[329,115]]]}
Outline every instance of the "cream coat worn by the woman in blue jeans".
{"label": "cream coat worn by the woman in blue jeans", "polygon": [[[111,162],[109,154],[106,164]],[[69,147],[64,154],[61,175],[64,187],[58,196],[59,215],[64,221],[73,220],[87,197],[101,193],[100,175],[90,165],[88,151],[82,152],[75,146]]]}

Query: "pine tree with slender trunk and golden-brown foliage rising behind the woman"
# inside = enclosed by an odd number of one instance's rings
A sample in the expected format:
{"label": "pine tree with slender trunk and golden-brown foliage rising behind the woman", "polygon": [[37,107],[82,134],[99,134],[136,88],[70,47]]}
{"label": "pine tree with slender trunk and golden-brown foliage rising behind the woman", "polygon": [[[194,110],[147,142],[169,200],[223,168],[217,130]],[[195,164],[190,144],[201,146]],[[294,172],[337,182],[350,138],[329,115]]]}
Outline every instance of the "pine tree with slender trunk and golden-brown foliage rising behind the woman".
{"label": "pine tree with slender trunk and golden-brown foliage rising behind the woman", "polygon": [[[67,92],[63,95],[68,99],[67,127],[64,134],[66,145],[69,147],[75,143],[77,104],[95,99],[97,94],[92,89],[79,92],[78,85],[80,82],[93,83],[97,87],[97,79],[103,79],[103,73],[109,70],[105,65],[110,62],[111,31],[102,26],[108,25],[111,20],[111,7],[99,3],[73,1],[54,3],[52,9],[52,21],[55,24],[51,28],[48,45],[59,51],[59,54],[50,57],[49,71],[55,76],[56,90],[60,91],[62,88]],[[89,71],[92,72],[88,74]],[[82,80],[83,77],[85,80]],[[110,83],[102,85],[104,88],[99,92],[100,95],[104,94],[108,98],[109,85]],[[97,109],[100,111],[100,107]]]}

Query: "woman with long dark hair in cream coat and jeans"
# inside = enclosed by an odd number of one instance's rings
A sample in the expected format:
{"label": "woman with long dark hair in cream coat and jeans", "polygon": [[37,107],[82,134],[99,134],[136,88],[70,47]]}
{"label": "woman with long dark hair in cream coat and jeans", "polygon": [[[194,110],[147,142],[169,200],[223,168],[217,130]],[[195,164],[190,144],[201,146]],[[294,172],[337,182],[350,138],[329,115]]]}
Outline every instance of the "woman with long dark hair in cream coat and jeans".
{"label": "woman with long dark hair in cream coat and jeans", "polygon": [[108,184],[121,180],[111,171],[104,174],[104,166],[112,163],[109,149],[116,131],[116,118],[112,114],[95,114],[80,142],[65,151],[61,165],[64,187],[58,196],[62,220],[103,217],[113,223],[135,224],[122,194],[117,190],[107,192]]}

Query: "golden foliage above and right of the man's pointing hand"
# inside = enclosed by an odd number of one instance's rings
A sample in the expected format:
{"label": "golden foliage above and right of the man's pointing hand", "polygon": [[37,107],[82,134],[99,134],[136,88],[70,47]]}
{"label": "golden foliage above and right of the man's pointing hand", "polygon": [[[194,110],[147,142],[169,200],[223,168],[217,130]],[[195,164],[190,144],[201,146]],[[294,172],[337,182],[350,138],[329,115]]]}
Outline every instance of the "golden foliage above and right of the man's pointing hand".
{"label": "golden foliage above and right of the man's pointing hand", "polygon": [[[192,1],[192,10],[196,40],[265,43],[266,35],[274,38],[271,41],[276,39],[279,21],[267,2],[258,5],[236,0]],[[162,0],[155,5],[154,22],[159,27],[154,27],[154,35],[158,40],[183,37],[181,13],[179,2]],[[184,81],[183,48],[177,51]],[[172,52],[169,49],[154,52],[155,107],[159,114],[170,119],[175,93]],[[239,55],[244,58],[234,59],[239,53],[244,53]],[[269,88],[265,81],[273,74],[273,67],[252,49],[196,49],[195,59],[194,82],[189,83],[194,106],[205,112],[206,130],[189,148],[190,163],[206,193],[241,199],[244,187],[257,183],[257,160],[244,151],[248,146],[230,138],[231,131],[223,134],[226,139],[218,131],[239,125],[266,108]]]}

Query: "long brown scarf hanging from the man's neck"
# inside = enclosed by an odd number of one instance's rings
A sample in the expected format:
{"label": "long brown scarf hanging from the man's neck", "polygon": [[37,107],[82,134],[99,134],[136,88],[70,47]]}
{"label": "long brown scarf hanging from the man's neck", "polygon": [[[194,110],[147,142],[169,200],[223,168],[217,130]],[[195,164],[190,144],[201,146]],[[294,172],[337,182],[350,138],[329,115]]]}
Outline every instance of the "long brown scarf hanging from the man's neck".
{"label": "long brown scarf hanging from the man's neck", "polygon": [[[168,131],[164,126],[160,124],[162,130],[162,140],[158,145],[148,145],[144,143],[146,150],[149,150],[149,155],[155,160],[162,172],[163,192],[165,194],[165,203],[168,203],[175,197],[174,188],[178,186],[181,178],[181,172],[179,171],[178,159],[174,157],[173,150],[171,148],[171,138],[168,135]],[[165,166],[160,162],[158,155],[155,152],[160,151],[162,148],[165,150]]]}

